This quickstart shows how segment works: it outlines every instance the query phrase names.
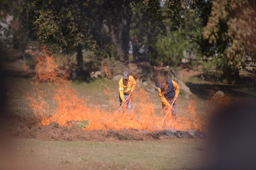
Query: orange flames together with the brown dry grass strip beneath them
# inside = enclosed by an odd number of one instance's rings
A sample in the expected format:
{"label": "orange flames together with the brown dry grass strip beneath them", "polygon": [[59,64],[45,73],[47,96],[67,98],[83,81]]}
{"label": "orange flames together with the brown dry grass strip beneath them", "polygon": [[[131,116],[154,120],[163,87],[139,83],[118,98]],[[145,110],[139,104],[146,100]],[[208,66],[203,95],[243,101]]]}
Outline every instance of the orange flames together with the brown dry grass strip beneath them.
{"label": "orange flames together with the brown dry grass strip beneath them", "polygon": [[[42,49],[35,60],[37,72],[31,82],[34,89],[28,93],[34,117],[11,117],[14,136],[98,141],[204,136],[201,132],[206,130],[208,115],[199,116],[196,100],[178,113],[176,121],[169,113],[162,124],[164,115],[152,103],[152,96],[138,88],[132,96],[134,108],[129,116],[118,112],[119,106],[115,102],[118,99],[111,98],[118,92],[108,83],[100,93],[109,97],[111,109],[102,109],[97,104],[89,106],[85,99],[78,97],[78,92],[68,80],[68,71],[66,74],[58,72],[56,58],[49,51]],[[45,88],[46,84],[48,88]],[[97,90],[96,87],[93,89]]]}

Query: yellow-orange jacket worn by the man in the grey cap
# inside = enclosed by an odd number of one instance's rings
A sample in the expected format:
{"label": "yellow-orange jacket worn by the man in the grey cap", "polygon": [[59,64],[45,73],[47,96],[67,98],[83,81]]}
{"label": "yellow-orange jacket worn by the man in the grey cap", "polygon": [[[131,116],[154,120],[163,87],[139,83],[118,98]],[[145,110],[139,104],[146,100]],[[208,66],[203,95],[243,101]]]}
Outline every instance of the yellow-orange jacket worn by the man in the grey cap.
{"label": "yellow-orange jacket worn by the man in the grey cap", "polygon": [[122,99],[122,101],[125,101],[124,94],[129,95],[130,92],[134,91],[135,86],[136,86],[136,81],[131,75],[129,75],[129,80],[127,85],[123,84],[123,78],[120,79],[118,90],[119,90],[120,98]]}

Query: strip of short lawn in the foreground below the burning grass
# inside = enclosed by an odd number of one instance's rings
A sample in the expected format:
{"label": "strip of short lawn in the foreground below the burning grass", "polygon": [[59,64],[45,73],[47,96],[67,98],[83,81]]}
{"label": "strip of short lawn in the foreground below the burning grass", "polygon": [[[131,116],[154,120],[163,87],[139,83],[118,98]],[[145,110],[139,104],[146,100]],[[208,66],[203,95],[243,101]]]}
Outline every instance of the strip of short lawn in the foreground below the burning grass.
{"label": "strip of short lawn in the foreground below the burning grass", "polygon": [[12,139],[10,144],[13,146],[9,150],[11,157],[2,160],[9,158],[9,168],[22,170],[198,169],[204,149],[200,139],[136,142]]}

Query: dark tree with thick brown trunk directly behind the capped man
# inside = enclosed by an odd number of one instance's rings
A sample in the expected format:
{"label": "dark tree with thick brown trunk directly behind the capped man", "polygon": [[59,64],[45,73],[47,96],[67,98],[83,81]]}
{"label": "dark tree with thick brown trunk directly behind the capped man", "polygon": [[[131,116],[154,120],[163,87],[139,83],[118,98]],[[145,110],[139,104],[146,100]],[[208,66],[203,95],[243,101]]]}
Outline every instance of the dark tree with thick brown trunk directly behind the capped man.
{"label": "dark tree with thick brown trunk directly behind the capped man", "polygon": [[[90,1],[91,18],[96,23],[94,32],[101,50],[114,46],[116,60],[127,60],[129,49],[129,30],[132,12],[132,0],[96,0]],[[106,31],[107,30],[107,31]]]}

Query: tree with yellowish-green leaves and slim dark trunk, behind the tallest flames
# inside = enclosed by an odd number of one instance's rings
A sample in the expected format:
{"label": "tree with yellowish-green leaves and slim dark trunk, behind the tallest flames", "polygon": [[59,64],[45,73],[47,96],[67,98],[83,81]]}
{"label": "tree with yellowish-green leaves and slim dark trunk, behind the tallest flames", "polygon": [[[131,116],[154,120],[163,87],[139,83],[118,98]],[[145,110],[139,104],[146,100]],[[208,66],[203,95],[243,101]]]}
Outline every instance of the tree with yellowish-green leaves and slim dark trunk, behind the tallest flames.
{"label": "tree with yellowish-green leaves and slim dark trunk, behind the tallest flames", "polygon": [[33,29],[41,43],[53,51],[78,52],[78,68],[83,70],[82,49],[94,49],[89,18],[89,0],[35,0]]}

